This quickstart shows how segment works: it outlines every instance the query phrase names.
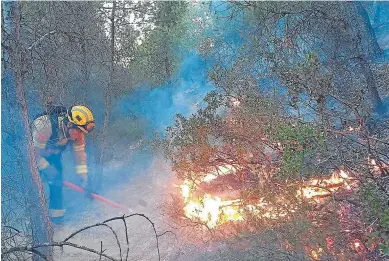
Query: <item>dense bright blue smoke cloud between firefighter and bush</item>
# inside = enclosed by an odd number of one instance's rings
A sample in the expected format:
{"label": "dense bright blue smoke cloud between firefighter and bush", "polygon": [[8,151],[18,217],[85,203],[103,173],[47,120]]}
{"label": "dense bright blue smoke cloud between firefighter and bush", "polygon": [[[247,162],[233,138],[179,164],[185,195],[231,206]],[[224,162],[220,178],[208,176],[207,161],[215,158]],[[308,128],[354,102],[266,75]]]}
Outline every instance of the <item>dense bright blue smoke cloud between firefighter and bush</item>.
{"label": "dense bright blue smoke cloud between firefighter and bush", "polygon": [[207,81],[210,64],[195,52],[189,52],[177,75],[162,86],[142,86],[121,100],[112,114],[131,115],[147,120],[146,133],[163,134],[176,114],[189,116],[203,106],[206,94],[215,87]]}

